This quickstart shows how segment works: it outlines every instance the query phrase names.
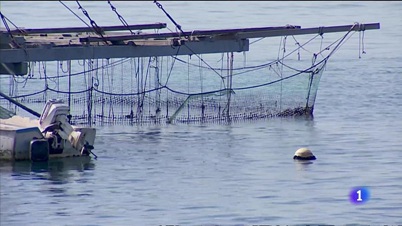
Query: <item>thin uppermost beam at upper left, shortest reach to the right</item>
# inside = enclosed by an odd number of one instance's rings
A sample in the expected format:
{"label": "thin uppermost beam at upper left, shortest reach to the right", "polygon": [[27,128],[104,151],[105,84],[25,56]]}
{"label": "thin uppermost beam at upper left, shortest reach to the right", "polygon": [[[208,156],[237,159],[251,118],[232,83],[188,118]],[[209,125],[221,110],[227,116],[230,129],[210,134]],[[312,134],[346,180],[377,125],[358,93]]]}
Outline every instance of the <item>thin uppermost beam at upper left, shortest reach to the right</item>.
{"label": "thin uppermost beam at upper left, shortest reach to the right", "polygon": [[[130,30],[144,30],[144,29],[162,29],[166,28],[166,24],[155,23],[155,24],[140,24],[140,25],[129,25],[126,26],[107,26],[100,27],[100,30],[104,32],[108,31],[128,31]],[[22,30],[22,31],[21,31]],[[43,28],[43,29],[21,29],[12,30],[12,34],[56,34],[56,33],[80,33],[80,32],[93,32],[93,28],[79,27],[79,28]]]}

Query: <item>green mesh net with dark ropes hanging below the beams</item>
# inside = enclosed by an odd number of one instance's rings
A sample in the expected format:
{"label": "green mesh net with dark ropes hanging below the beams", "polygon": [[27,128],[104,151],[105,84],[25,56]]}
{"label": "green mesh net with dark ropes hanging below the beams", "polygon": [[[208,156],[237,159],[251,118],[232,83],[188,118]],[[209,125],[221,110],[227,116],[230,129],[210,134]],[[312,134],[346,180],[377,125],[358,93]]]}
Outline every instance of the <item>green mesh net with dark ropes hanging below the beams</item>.
{"label": "green mesh net with dark ropes hanging below the beams", "polygon": [[[303,70],[289,66],[300,65],[299,59],[289,56],[299,54],[303,45],[286,53],[284,38],[277,59],[258,66],[245,66],[239,60],[243,53],[213,54],[215,59],[192,55],[30,62],[28,75],[3,76],[0,88],[39,113],[48,99],[60,99],[70,106],[72,124],[219,122],[310,115],[326,62],[345,37],[332,43],[336,46],[331,51],[320,48]],[[325,57],[324,50],[330,52]],[[4,98],[0,103],[27,115]]]}

